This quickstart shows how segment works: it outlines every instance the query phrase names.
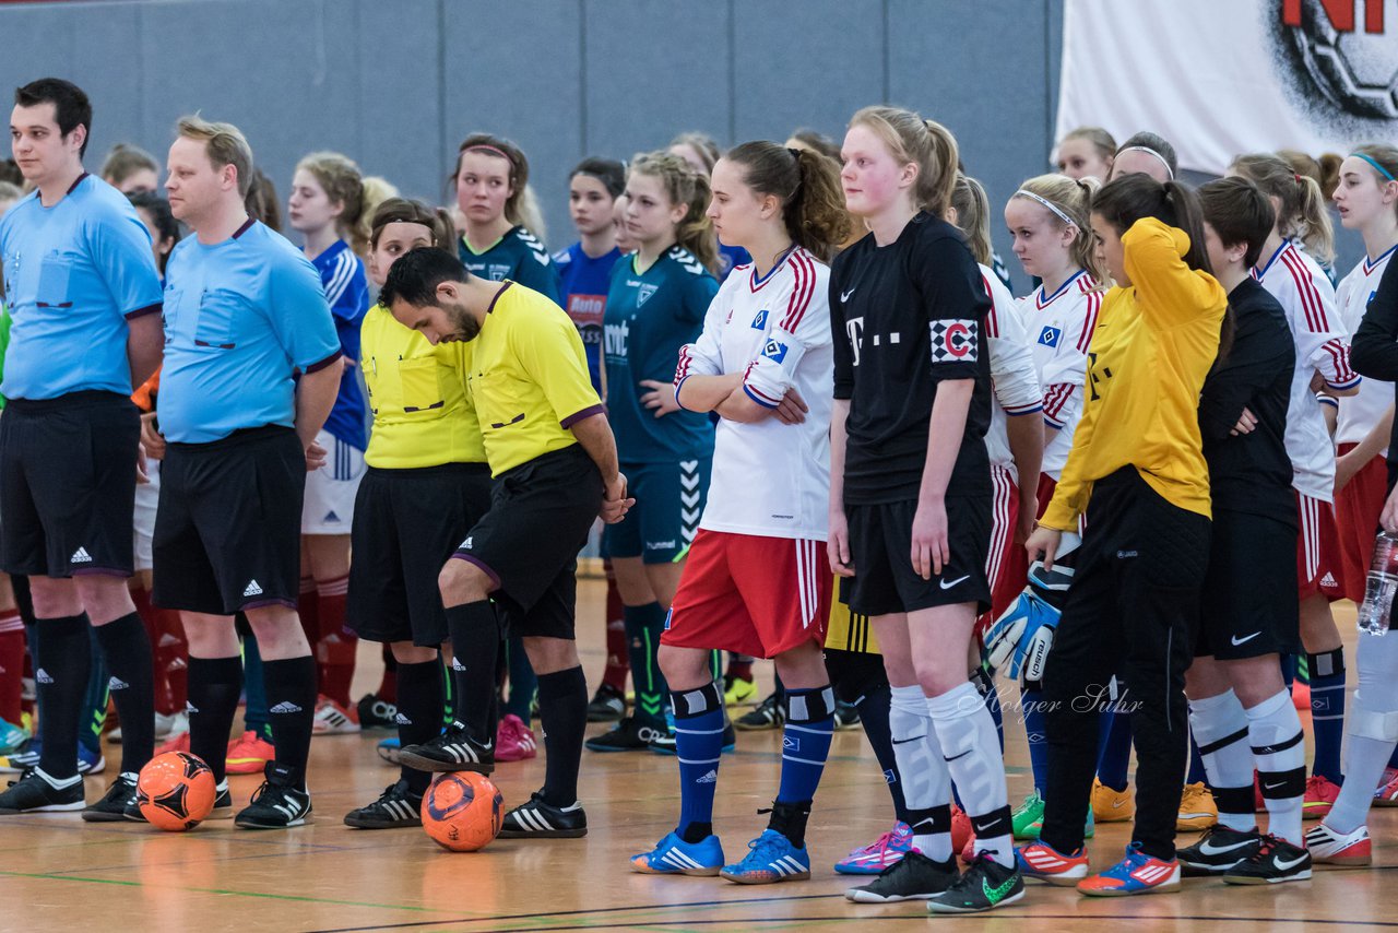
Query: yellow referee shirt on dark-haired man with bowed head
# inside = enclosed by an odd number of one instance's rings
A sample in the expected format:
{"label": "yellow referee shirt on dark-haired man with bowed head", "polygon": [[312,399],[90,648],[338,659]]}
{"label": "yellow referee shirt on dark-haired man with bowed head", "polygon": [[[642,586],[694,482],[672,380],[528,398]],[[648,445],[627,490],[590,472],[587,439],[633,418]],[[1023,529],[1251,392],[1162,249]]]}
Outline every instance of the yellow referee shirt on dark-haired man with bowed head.
{"label": "yellow referee shirt on dark-haired man with bowed head", "polygon": [[573,320],[506,280],[471,341],[471,399],[491,476],[577,443],[569,425],[603,411]]}

